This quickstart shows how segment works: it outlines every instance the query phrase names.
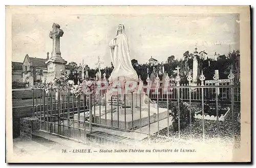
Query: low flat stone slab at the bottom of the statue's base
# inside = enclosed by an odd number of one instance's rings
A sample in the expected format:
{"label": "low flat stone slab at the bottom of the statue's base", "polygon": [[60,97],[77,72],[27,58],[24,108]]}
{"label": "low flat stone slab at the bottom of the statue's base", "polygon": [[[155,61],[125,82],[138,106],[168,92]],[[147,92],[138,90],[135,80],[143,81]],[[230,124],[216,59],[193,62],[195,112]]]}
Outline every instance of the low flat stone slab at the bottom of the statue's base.
{"label": "low flat stone slab at the bottom of the statue's base", "polygon": [[[94,114],[94,110],[92,111]],[[95,107],[94,122],[101,125],[122,128],[122,129],[138,129],[150,124],[160,121],[168,116],[166,108],[158,108],[157,104],[148,104],[141,107],[122,108],[121,106],[112,106],[106,108],[105,106]]]}

